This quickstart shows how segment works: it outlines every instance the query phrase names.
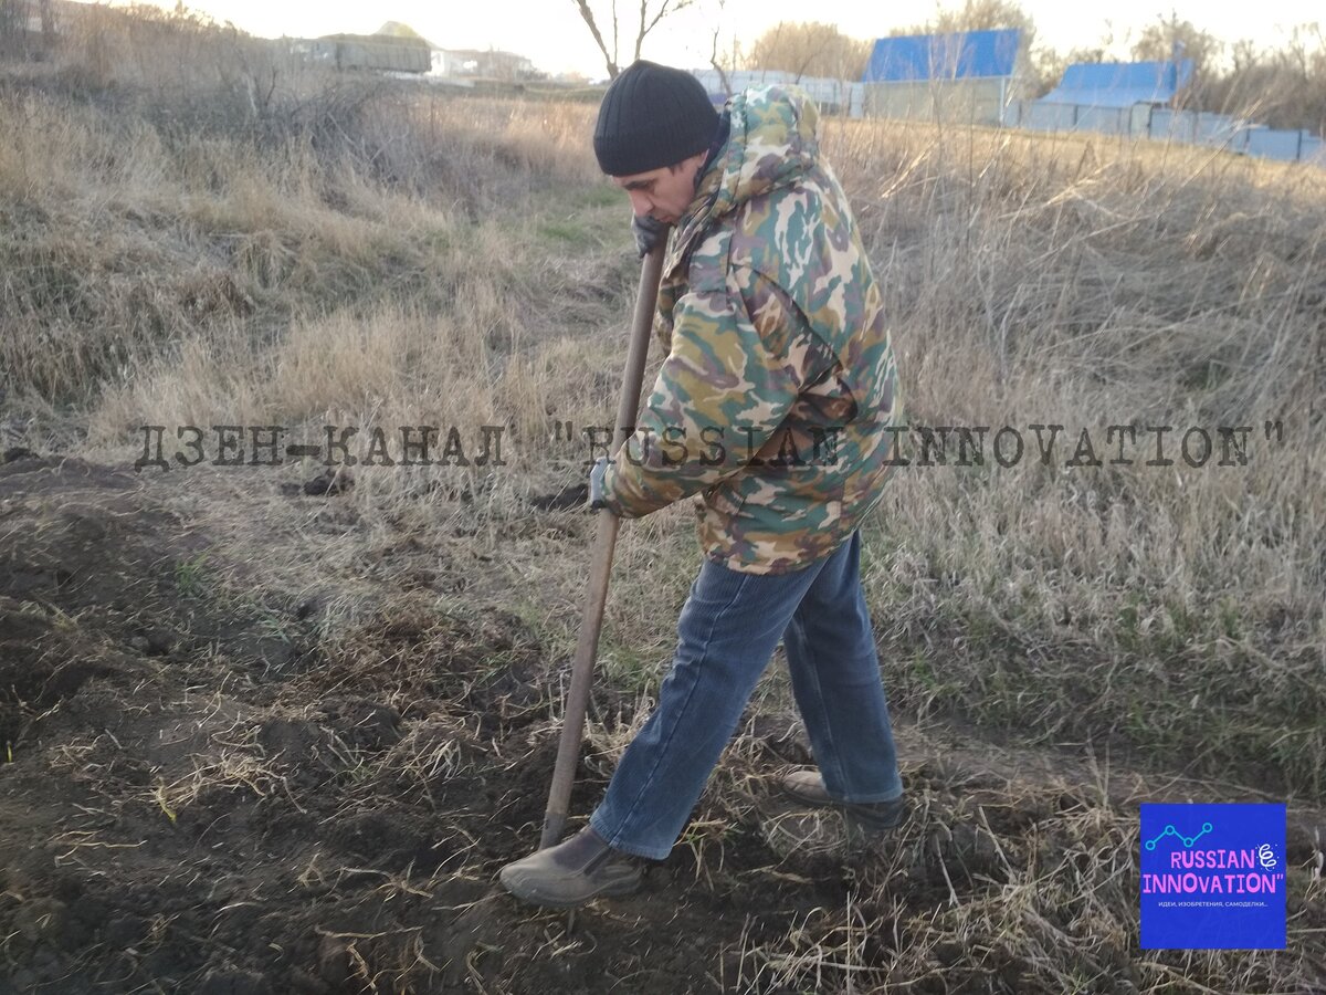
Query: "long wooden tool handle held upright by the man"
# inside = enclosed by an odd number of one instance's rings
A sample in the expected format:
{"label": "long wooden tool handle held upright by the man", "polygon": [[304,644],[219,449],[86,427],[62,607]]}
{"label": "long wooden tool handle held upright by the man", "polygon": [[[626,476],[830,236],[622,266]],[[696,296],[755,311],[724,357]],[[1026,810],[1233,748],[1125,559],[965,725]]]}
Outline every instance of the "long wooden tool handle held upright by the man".
{"label": "long wooden tool handle held upright by the man", "polygon": [[[635,297],[635,316],[631,320],[631,342],[626,352],[626,373],[622,377],[622,399],[617,409],[617,432],[613,436],[615,452],[635,426],[640,407],[640,385],[644,379],[644,360],[650,352],[650,330],[654,326],[654,308],[658,305],[659,280],[663,276],[663,249],[656,245],[640,263],[640,291]],[[594,537],[589,589],[585,613],[581,617],[579,642],[572,665],[572,686],[566,693],[566,714],[562,719],[562,739],[557,746],[557,765],[553,768],[553,787],[548,792],[548,811],[544,813],[544,833],[538,849],[553,846],[566,827],[575,765],[579,763],[579,742],[585,731],[585,711],[594,685],[594,661],[598,658],[598,633],[603,626],[603,605],[607,601],[607,578],[613,572],[613,551],[617,548],[618,519],[607,508],[598,512],[598,533]]]}

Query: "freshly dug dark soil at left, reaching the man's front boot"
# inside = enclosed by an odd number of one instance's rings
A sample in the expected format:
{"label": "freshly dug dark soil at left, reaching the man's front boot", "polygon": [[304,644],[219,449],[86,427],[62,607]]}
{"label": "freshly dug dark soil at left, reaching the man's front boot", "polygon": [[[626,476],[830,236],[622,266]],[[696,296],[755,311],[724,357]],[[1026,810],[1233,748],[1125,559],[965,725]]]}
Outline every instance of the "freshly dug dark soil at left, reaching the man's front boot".
{"label": "freshly dug dark soil at left, reaching the man's front boot", "polygon": [[[743,918],[690,888],[686,852],[573,929],[493,888],[556,754],[518,622],[402,600],[328,646],[305,605],[194,592],[213,539],[131,472],[24,459],[0,500],[0,987],[712,987],[701,951]],[[582,771],[575,811],[602,784]]]}

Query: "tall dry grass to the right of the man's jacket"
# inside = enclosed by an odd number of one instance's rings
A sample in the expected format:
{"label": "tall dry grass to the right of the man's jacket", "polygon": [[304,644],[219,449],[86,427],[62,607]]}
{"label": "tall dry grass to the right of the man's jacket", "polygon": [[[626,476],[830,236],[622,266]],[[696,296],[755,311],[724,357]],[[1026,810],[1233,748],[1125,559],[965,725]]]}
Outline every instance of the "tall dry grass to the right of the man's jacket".
{"label": "tall dry grass to the right of the man's jacket", "polygon": [[[1319,796],[1326,174],[915,127],[847,125],[830,147],[887,260],[908,421],[1028,444],[1010,470],[987,450],[899,472],[873,536],[878,624],[926,651],[895,685],[922,710],[1120,734]],[[1050,467],[1036,423],[1065,426]],[[1110,425],[1136,429],[1134,464],[1110,463]],[[1176,427],[1175,466],[1144,464],[1147,426]],[[1217,443],[1249,426],[1246,466],[1185,464],[1193,426]],[[1105,466],[1065,466],[1083,429]]]}

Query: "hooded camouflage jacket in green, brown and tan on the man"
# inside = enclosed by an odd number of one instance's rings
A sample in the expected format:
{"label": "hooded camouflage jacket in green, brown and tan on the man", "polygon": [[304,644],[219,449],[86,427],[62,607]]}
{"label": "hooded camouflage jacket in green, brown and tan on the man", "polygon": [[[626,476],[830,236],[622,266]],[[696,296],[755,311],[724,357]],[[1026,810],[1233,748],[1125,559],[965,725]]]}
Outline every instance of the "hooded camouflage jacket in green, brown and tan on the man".
{"label": "hooded camouflage jacket in green, brown and tan on the man", "polygon": [[727,111],[663,267],[670,353],[603,490],[623,517],[696,496],[709,559],[782,573],[831,553],[879,501],[898,370],[814,103],[768,86]]}

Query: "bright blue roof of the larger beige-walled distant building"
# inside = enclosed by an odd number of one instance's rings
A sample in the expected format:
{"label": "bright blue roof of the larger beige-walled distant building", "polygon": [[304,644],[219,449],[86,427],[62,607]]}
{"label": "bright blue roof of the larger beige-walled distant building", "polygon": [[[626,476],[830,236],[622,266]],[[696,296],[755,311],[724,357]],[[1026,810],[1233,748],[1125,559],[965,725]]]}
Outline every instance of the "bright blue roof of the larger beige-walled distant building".
{"label": "bright blue roof of the larger beige-walled distant building", "polygon": [[878,38],[862,82],[967,80],[1012,76],[1021,32],[968,31]]}

